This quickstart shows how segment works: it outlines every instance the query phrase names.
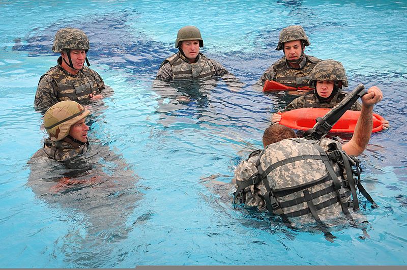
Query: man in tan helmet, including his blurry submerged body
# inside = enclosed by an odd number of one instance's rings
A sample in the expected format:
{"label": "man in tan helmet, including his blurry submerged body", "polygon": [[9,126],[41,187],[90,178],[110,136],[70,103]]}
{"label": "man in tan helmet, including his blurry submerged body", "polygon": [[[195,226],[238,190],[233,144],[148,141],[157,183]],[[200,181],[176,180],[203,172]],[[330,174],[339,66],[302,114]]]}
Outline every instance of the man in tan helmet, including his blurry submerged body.
{"label": "man in tan helmet, including his blurry submerged body", "polygon": [[49,137],[28,162],[27,186],[51,206],[85,214],[90,234],[125,237],[126,219],[140,193],[138,177],[107,145],[89,143],[88,109],[75,101],[61,101],[44,115]]}

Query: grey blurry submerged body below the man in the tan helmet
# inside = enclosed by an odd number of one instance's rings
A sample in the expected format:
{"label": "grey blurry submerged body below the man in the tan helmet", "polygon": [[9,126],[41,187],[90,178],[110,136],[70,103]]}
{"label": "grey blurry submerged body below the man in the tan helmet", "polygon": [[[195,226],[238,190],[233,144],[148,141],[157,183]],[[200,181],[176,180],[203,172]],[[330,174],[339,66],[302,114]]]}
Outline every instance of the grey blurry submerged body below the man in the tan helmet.
{"label": "grey blurry submerged body below the man in the tan helmet", "polygon": [[75,267],[103,265],[111,253],[103,243],[120,242],[133,228],[127,219],[142,195],[132,166],[97,143],[71,161],[37,158],[28,166],[27,186],[48,207],[63,208],[68,219],[77,222],[60,244],[66,260]]}

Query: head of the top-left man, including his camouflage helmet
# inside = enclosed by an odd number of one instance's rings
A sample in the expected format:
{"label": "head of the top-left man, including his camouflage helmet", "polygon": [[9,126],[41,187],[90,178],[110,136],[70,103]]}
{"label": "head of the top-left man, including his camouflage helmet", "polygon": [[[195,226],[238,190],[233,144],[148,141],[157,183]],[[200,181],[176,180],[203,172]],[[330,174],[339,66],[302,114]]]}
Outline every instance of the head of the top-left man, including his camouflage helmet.
{"label": "head of the top-left man, including his camouflage helmet", "polygon": [[89,47],[89,39],[83,31],[68,27],[56,32],[52,50],[61,53],[62,67],[76,74],[83,68],[85,62],[90,66],[86,57]]}

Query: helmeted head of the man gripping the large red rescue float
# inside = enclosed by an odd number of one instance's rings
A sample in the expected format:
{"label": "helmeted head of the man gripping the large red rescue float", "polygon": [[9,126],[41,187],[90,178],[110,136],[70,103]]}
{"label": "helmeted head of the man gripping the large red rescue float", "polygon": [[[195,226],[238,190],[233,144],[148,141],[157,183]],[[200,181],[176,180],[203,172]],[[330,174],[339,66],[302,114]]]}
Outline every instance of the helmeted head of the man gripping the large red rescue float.
{"label": "helmeted head of the man gripping the large red rescue float", "polygon": [[309,78],[309,86],[316,89],[315,95],[319,101],[330,102],[342,86],[347,86],[345,69],[340,62],[332,59],[316,64]]}

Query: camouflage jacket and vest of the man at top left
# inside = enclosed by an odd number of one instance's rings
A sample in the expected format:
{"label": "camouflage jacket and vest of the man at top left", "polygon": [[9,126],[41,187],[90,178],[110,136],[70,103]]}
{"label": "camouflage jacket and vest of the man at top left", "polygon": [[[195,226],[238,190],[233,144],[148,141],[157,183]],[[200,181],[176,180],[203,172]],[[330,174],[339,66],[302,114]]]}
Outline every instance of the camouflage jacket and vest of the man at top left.
{"label": "camouflage jacket and vest of the man at top left", "polygon": [[83,101],[90,99],[90,94],[103,95],[105,83],[96,71],[83,66],[77,74],[72,75],[62,68],[62,57],[57,63],[58,65],[50,68],[38,82],[34,100],[36,109],[47,110],[64,100],[83,104]]}

